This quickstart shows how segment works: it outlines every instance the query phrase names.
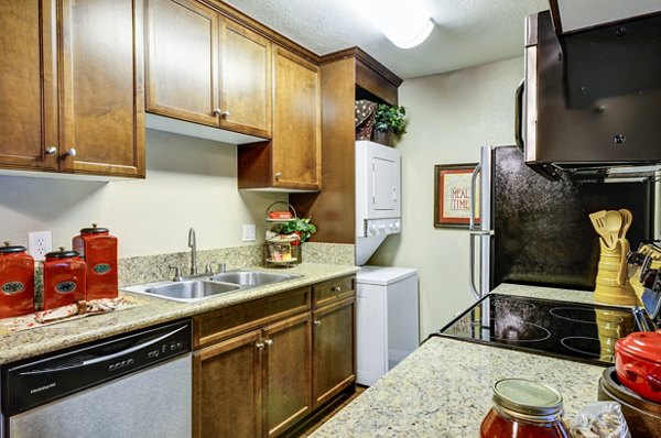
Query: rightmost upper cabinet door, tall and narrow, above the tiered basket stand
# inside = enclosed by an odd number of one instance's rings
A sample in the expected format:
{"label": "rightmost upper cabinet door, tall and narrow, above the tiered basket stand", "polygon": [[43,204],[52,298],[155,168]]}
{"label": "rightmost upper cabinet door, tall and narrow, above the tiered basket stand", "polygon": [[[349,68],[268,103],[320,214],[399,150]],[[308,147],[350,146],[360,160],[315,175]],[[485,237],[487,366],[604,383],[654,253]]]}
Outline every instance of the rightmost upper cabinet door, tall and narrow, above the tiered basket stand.
{"label": "rightmost upper cabinet door, tall and narrow, above the tiered basket stand", "polygon": [[275,48],[273,186],[321,188],[321,97],[318,67]]}

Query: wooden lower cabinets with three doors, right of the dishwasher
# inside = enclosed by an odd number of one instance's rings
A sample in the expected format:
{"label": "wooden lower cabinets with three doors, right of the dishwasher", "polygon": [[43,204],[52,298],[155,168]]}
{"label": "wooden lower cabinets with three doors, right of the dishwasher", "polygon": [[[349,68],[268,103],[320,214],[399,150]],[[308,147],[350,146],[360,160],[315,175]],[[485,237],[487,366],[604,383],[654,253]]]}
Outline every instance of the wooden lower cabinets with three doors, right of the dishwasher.
{"label": "wooden lower cabinets with three doors, right of the dishwasher", "polygon": [[[280,436],[354,384],[353,285],[342,277],[194,317],[194,437]],[[324,305],[313,310],[311,295]]]}

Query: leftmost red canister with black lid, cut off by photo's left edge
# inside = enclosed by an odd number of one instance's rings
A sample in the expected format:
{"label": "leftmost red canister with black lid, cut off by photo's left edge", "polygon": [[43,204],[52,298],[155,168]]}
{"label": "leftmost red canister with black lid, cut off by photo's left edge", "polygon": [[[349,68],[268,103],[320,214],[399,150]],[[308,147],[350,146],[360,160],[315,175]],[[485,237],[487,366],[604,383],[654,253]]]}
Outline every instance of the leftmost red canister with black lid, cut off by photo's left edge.
{"label": "leftmost red canister with black lid, cut off by photo's left edge", "polygon": [[25,247],[0,247],[0,318],[34,311],[34,259]]}

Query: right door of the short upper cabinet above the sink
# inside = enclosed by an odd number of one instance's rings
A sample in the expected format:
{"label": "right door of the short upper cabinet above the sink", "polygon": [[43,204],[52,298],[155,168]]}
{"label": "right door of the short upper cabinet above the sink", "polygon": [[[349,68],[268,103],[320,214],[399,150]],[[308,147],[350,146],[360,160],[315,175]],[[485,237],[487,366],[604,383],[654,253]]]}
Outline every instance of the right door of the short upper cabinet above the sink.
{"label": "right door of the short upper cabinet above the sink", "polygon": [[220,54],[220,127],[270,138],[271,43],[224,19]]}

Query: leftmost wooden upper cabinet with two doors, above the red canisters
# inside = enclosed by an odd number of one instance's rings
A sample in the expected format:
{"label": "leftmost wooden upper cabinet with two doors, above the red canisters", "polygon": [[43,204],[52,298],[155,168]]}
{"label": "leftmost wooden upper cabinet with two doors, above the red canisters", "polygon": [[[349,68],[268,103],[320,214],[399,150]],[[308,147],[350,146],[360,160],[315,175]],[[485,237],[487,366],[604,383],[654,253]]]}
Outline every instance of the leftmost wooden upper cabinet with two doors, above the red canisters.
{"label": "leftmost wooden upper cabinet with two doors, above the red canisters", "polygon": [[142,1],[3,8],[0,166],[143,176]]}

